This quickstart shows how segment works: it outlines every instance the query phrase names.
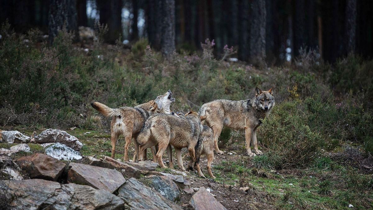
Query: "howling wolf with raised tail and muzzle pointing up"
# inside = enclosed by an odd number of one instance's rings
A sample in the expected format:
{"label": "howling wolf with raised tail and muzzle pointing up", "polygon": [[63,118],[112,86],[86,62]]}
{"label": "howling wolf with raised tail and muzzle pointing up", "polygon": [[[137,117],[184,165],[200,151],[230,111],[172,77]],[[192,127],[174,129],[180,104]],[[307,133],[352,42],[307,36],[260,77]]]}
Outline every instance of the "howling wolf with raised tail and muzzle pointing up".
{"label": "howling wolf with raised tail and muzzle pointing up", "polygon": [[168,90],[164,95],[157,96],[155,100],[146,102],[144,104],[137,105],[135,107],[120,107],[110,108],[99,102],[93,102],[91,105],[98,112],[106,117],[113,117],[110,124],[111,130],[111,144],[112,144],[112,158],[115,156],[115,145],[119,135],[123,135],[126,144],[124,148],[124,161],[128,161],[128,147],[131,143],[132,138],[136,138],[140,132],[145,120],[150,116],[148,110],[151,105],[157,104],[158,107],[168,107],[170,104],[175,102],[175,98],[172,98],[171,90]]}

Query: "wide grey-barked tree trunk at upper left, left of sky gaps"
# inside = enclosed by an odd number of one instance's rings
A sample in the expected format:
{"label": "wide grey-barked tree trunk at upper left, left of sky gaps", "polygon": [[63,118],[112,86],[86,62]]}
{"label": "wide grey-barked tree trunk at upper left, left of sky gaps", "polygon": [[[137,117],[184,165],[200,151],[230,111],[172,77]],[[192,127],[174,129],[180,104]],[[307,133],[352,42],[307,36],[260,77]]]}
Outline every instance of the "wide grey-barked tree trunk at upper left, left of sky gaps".
{"label": "wide grey-barked tree trunk at upper left, left of sky gaps", "polygon": [[49,43],[52,44],[58,31],[66,26],[68,31],[72,31],[75,40],[78,37],[78,24],[76,17],[75,0],[50,0],[49,5]]}

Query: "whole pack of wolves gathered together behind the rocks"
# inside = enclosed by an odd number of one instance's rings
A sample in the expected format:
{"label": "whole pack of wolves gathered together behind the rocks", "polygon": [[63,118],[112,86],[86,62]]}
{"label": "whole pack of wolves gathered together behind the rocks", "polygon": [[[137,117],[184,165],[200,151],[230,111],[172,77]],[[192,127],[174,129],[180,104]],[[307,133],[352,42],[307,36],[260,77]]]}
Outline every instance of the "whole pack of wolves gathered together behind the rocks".
{"label": "whole pack of wolves gathered together behind the rocks", "polygon": [[[261,155],[258,150],[257,128],[267,117],[275,98],[272,88],[262,91],[255,89],[253,98],[242,101],[217,99],[203,104],[198,112],[188,109],[186,113],[170,110],[175,102],[171,90],[156,99],[135,107],[110,108],[99,102],[91,105],[106,117],[112,117],[111,145],[115,157],[115,147],[118,137],[124,136],[126,141],[123,161],[128,161],[128,148],[134,139],[135,152],[132,161],[147,159],[147,148],[151,148],[153,161],[160,167],[164,166],[162,157],[166,151],[169,167],[173,169],[172,146],[175,149],[179,169],[185,172],[181,150],[187,148],[190,161],[187,170],[197,170],[200,177],[206,178],[200,168],[200,157],[207,157],[207,171],[210,178],[215,179],[211,172],[211,164],[216,154],[223,154],[219,149],[218,139],[224,126],[245,131],[246,151],[248,156]],[[254,150],[251,150],[253,145]]]}

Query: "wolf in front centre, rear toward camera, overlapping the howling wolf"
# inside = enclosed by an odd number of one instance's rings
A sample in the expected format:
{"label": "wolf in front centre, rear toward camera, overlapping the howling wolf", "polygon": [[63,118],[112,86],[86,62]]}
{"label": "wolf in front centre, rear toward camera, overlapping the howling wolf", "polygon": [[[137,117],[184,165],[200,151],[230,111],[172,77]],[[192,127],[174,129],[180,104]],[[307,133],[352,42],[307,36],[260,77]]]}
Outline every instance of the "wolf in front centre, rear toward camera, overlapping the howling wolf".
{"label": "wolf in front centre, rear toward camera, overlapping the howling wolf", "polygon": [[154,114],[146,120],[144,127],[137,137],[139,145],[139,159],[143,160],[144,149],[158,145],[156,154],[158,164],[166,168],[162,161],[163,152],[170,144],[175,148],[179,168],[185,172],[182,163],[181,149],[188,148],[191,161],[195,162],[195,145],[200,135],[201,117],[197,112],[188,109],[186,117],[176,117],[170,114]]}

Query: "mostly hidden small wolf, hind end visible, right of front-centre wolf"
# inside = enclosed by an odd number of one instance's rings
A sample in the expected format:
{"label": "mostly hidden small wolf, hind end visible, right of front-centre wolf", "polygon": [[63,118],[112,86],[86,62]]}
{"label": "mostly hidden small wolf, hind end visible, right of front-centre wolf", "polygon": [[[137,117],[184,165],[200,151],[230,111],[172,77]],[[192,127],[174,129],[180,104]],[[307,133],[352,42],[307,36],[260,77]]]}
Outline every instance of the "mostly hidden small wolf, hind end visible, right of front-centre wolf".
{"label": "mostly hidden small wolf, hind end visible, right of front-centre wolf", "polygon": [[[204,118],[206,118],[206,116],[204,116]],[[207,156],[207,172],[209,172],[209,175],[212,179],[215,179],[215,176],[211,172],[211,163],[214,160],[214,135],[213,135],[213,131],[211,130],[209,126],[202,127],[197,145],[195,145],[194,150],[195,150],[194,168],[197,169],[198,176],[206,178],[202,173],[202,170],[200,168],[200,163],[199,163],[201,155],[206,155]],[[191,167],[188,166],[188,169],[191,169]]]}

